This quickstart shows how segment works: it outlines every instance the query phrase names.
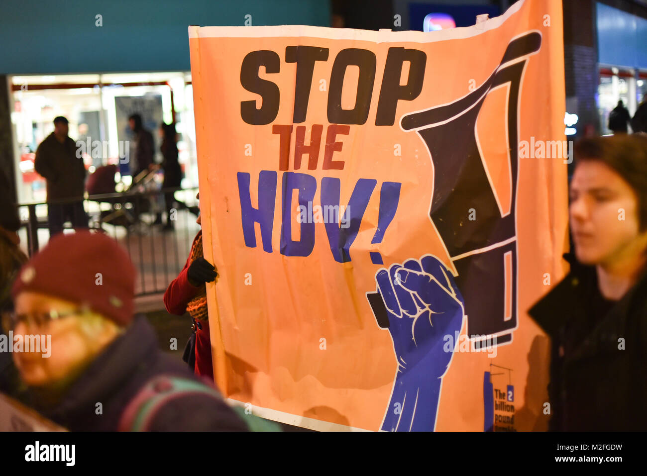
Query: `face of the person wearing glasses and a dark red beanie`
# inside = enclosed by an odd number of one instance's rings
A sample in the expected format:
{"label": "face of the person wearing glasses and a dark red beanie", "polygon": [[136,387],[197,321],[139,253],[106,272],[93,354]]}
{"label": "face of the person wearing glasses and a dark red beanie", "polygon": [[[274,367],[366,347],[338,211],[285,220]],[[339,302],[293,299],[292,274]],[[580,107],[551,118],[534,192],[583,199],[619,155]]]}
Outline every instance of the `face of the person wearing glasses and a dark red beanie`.
{"label": "face of the person wearing glasses and a dark red beanie", "polygon": [[[40,334],[42,343],[45,341],[43,336],[51,336],[47,353],[41,344],[41,352],[27,349],[25,345],[25,350],[32,352],[12,354],[23,382],[30,386],[51,385],[74,378],[119,334],[119,327],[113,321],[80,310],[77,303],[47,294],[21,292],[14,304],[17,316],[27,316],[14,324],[14,340],[16,334]],[[52,310],[65,317],[38,319],[37,316]],[[47,354],[49,356],[44,356]]]}

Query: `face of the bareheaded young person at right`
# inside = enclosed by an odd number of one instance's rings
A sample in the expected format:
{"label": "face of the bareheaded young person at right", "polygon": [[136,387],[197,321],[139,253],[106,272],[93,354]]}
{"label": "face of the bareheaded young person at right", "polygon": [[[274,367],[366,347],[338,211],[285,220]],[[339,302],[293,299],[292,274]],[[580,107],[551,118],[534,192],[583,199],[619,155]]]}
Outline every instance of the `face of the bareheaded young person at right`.
{"label": "face of the bareheaded young person at right", "polygon": [[620,175],[599,160],[578,162],[569,207],[575,255],[584,265],[612,265],[637,251],[638,197]]}

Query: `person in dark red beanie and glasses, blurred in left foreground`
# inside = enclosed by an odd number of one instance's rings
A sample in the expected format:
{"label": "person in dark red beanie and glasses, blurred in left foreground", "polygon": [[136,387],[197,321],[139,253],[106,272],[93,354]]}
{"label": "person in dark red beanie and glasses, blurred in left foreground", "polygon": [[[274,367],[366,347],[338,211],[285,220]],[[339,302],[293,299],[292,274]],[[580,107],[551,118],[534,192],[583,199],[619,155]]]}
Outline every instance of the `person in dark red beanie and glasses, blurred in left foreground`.
{"label": "person in dark red beanie and glasses, blurred in left foreground", "polygon": [[247,430],[214,388],[158,349],[146,318],[133,318],[134,285],[126,250],[102,233],[57,235],[23,266],[14,339],[50,336],[12,354],[32,406],[72,431]]}

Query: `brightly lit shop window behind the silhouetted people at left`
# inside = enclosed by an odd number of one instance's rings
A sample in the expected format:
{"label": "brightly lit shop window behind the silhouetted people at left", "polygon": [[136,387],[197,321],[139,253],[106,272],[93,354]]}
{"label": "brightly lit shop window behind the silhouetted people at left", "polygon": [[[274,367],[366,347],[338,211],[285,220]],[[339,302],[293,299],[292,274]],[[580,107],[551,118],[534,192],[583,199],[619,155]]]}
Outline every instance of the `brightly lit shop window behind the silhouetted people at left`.
{"label": "brightly lit shop window behind the silhouetted people at left", "polygon": [[69,136],[77,144],[85,144],[81,154],[89,173],[102,165],[117,164],[124,182],[129,182],[129,170],[123,164],[124,141],[129,139],[127,116],[135,112],[144,116],[156,140],[157,162],[161,160],[160,123],[175,121],[183,186],[197,185],[190,83],[188,72],[13,76],[11,116],[16,131],[19,202],[45,201],[45,180],[34,170],[34,155],[54,131],[56,116],[67,117]]}

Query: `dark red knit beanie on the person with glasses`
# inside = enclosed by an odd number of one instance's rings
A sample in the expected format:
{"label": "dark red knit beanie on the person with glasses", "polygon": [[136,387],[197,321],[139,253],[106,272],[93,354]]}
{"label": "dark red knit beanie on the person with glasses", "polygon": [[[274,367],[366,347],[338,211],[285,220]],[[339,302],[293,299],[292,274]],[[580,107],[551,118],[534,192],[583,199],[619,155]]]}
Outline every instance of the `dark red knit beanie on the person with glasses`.
{"label": "dark red knit beanie on the person with glasses", "polygon": [[133,320],[135,268],[126,250],[103,233],[59,233],[20,270],[12,296],[23,291],[87,305],[123,326]]}

